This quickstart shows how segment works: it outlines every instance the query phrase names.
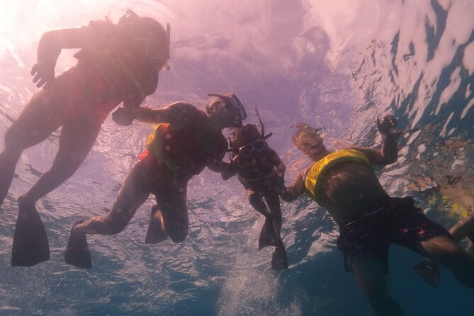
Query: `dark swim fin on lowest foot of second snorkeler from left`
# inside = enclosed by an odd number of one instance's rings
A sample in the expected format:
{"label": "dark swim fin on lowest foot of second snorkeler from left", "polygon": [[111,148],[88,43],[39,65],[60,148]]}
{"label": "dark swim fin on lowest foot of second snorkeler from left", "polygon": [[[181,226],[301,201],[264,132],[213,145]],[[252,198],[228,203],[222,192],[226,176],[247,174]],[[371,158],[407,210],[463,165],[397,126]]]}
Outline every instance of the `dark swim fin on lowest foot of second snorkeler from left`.
{"label": "dark swim fin on lowest foot of second snorkeler from left", "polygon": [[71,235],[67,242],[66,252],[64,252],[64,262],[72,264],[82,269],[92,268],[91,252],[87,245],[86,234],[77,234],[72,236],[72,230],[76,225],[83,223],[84,220],[77,220],[71,229]]}

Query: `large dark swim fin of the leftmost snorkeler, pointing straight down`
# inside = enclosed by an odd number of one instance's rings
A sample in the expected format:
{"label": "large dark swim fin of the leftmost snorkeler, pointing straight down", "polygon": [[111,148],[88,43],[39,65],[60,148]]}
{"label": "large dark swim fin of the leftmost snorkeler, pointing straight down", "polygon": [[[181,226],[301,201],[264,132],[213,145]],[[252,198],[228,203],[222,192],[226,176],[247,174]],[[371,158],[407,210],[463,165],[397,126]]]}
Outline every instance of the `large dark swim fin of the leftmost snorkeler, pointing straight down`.
{"label": "large dark swim fin of the leftmost snorkeler, pointing straight down", "polygon": [[11,266],[34,266],[50,259],[45,225],[35,205],[21,205],[16,219]]}

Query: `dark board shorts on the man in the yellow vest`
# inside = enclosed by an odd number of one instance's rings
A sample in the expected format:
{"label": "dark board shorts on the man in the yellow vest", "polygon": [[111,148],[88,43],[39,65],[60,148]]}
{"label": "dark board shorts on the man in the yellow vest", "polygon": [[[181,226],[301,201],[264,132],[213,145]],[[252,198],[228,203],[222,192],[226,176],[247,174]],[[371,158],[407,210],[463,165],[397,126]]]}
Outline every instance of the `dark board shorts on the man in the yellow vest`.
{"label": "dark board shorts on the man in the yellow vest", "polygon": [[339,225],[337,248],[344,252],[344,266],[351,272],[357,254],[375,256],[383,261],[388,272],[390,244],[400,244],[418,252],[418,242],[435,236],[451,235],[444,227],[429,220],[413,198],[388,198],[380,208],[364,213],[361,218]]}

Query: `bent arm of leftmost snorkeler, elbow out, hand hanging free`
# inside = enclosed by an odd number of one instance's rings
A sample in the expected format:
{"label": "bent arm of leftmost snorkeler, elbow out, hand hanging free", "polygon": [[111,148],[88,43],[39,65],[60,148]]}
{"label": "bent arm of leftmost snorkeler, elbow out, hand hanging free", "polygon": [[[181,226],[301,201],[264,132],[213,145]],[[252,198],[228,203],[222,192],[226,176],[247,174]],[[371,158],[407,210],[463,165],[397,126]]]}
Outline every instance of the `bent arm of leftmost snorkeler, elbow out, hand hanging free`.
{"label": "bent arm of leftmost snorkeler, elbow out, hand hanging free", "polygon": [[38,62],[31,69],[38,88],[55,79],[57,57],[63,48],[79,48],[86,43],[86,28],[62,28],[43,34],[38,43]]}

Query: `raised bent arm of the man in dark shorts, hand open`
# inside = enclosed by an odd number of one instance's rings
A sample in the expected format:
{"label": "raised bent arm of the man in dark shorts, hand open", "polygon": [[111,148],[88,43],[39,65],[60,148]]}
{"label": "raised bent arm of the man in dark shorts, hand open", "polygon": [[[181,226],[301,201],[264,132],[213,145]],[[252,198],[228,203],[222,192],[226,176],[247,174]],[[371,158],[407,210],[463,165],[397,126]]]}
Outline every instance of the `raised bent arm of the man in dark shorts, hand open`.
{"label": "raised bent arm of the man in dark shorts, hand open", "polygon": [[365,154],[371,164],[385,166],[397,161],[397,138],[400,132],[395,130],[397,121],[392,115],[385,115],[382,120],[377,119],[377,127],[382,135],[382,148],[380,150],[366,147],[353,147]]}

